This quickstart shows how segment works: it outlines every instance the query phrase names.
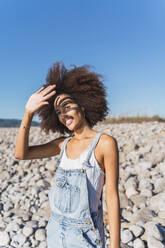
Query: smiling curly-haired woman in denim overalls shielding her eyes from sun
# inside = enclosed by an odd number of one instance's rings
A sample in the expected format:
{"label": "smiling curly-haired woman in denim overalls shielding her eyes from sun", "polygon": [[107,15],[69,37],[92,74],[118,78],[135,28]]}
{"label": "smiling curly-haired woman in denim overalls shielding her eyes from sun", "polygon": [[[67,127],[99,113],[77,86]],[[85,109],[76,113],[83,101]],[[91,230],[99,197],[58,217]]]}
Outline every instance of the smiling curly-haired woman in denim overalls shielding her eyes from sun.
{"label": "smiling curly-haired woman in denim overalls shielding her eyes from sun", "polygon": [[[46,84],[28,100],[19,128],[15,157],[37,159],[59,154],[49,191],[51,215],[48,248],[105,247],[103,185],[111,248],[120,247],[118,147],[116,140],[92,127],[108,112],[101,76],[87,66],[67,70],[57,62]],[[41,128],[62,134],[46,144],[29,146],[29,129],[38,113]],[[69,136],[64,136],[68,133]]]}

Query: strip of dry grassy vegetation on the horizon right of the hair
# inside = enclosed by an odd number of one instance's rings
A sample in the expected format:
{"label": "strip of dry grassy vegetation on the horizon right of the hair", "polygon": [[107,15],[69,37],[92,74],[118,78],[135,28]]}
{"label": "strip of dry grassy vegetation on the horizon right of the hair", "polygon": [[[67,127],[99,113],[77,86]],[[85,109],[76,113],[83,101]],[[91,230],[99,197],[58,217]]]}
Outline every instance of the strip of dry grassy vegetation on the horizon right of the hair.
{"label": "strip of dry grassy vegetation on the horizon right of the hair", "polygon": [[159,115],[153,115],[152,117],[148,117],[146,115],[119,116],[117,118],[107,117],[106,120],[104,120],[104,123],[142,123],[151,121],[165,122],[165,118],[162,118]]}

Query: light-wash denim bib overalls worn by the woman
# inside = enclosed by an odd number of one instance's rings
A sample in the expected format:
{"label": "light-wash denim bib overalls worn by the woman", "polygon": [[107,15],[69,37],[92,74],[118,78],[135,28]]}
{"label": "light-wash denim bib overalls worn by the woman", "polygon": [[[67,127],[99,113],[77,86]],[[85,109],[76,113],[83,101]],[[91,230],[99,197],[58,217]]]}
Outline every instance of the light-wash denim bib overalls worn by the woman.
{"label": "light-wash denim bib overalls worn by the woman", "polygon": [[[46,228],[48,248],[105,248],[102,207],[102,188],[105,174],[98,166],[89,163],[89,158],[101,136],[97,133],[89,146],[81,169],[57,167],[53,186],[48,193],[51,215]],[[65,138],[58,158],[61,161]],[[97,189],[101,197],[97,197]],[[97,211],[91,211],[90,201]]]}

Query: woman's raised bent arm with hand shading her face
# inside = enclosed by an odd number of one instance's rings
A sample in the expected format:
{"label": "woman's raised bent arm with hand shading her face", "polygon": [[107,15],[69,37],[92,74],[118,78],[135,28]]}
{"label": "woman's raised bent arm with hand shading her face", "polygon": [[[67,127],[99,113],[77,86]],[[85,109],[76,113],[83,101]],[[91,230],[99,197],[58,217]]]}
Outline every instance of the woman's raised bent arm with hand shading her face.
{"label": "woman's raised bent arm with hand shading her face", "polygon": [[29,130],[33,115],[42,106],[49,104],[47,100],[56,93],[54,88],[55,85],[51,85],[46,88],[42,87],[29,98],[17,135],[15,158],[36,159],[59,154],[64,137],[57,138],[43,145],[29,146]]}

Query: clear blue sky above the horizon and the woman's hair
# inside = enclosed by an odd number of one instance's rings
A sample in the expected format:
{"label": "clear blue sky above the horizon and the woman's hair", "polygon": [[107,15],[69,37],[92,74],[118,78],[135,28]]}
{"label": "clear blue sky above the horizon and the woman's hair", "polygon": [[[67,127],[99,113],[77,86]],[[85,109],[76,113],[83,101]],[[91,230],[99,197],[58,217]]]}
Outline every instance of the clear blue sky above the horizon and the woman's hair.
{"label": "clear blue sky above the horizon and the woman's hair", "polygon": [[56,61],[103,74],[111,116],[165,117],[164,0],[0,0],[0,118],[23,117]]}

